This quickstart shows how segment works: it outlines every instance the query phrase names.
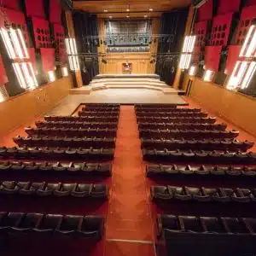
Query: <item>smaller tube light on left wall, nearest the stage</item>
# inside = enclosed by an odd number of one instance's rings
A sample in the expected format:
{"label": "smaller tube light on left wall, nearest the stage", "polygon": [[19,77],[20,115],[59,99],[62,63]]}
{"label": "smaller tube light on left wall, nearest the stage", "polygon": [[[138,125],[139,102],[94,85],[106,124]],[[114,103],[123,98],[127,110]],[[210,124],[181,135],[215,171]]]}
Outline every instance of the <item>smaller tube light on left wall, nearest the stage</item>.
{"label": "smaller tube light on left wall, nearest the stage", "polygon": [[75,38],[65,39],[69,67],[72,71],[79,71],[79,56]]}

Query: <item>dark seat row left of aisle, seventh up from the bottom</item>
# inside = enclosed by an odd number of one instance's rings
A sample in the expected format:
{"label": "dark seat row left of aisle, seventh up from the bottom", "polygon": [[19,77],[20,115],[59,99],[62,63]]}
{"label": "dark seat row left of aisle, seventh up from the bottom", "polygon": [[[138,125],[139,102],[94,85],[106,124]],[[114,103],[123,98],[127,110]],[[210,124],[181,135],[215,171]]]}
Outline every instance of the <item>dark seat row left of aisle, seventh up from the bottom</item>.
{"label": "dark seat row left of aisle, seventh up from the bottom", "polygon": [[36,122],[36,126],[38,128],[87,128],[87,129],[94,129],[94,128],[102,128],[102,129],[113,129],[117,128],[118,122],[98,122],[98,123],[91,123],[91,122],[73,122],[73,121],[66,121],[66,122],[55,122],[55,121],[38,121]]}

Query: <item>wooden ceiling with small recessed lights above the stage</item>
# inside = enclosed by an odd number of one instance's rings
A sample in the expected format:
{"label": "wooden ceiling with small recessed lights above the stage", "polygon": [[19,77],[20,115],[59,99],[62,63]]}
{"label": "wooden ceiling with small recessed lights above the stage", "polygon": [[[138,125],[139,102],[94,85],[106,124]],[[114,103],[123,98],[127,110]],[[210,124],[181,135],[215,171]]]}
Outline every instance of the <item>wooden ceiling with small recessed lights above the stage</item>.
{"label": "wooden ceiling with small recessed lights above the stage", "polygon": [[[191,0],[76,0],[73,9],[80,9],[99,17],[125,18],[160,16],[162,12],[189,6]],[[127,11],[130,9],[130,11]],[[153,9],[149,11],[149,9]]]}

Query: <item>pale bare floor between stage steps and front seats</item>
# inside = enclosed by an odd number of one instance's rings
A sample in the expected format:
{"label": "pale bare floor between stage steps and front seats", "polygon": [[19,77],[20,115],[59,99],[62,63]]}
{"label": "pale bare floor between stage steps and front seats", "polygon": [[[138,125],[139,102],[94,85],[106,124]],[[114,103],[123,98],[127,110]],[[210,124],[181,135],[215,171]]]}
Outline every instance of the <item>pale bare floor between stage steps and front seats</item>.
{"label": "pale bare floor between stage steps and front seats", "polygon": [[90,94],[69,95],[52,109],[50,115],[69,115],[82,103],[172,103],[187,105],[181,96],[145,89],[108,89],[91,91]]}

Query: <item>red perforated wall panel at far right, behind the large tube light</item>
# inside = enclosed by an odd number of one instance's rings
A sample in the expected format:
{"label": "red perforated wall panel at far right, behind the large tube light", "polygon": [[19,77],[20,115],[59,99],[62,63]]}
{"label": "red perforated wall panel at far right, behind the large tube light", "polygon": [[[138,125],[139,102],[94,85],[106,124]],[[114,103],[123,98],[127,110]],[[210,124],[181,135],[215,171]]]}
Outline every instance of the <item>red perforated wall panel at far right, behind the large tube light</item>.
{"label": "red perforated wall panel at far right, behind the large tube light", "polygon": [[236,44],[243,44],[252,20],[256,19],[256,5],[246,7],[241,11],[241,18],[236,32]]}

